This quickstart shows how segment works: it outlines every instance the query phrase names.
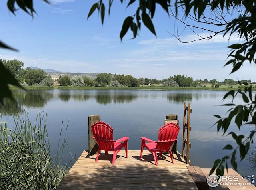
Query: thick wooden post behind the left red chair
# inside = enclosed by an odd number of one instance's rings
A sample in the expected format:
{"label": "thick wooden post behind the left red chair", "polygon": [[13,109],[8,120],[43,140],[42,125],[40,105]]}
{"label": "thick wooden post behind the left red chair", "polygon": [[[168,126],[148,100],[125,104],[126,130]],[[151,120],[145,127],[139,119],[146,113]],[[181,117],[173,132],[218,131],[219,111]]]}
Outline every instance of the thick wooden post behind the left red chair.
{"label": "thick wooden post behind the left red chair", "polygon": [[88,143],[89,143],[89,154],[95,154],[98,151],[99,145],[95,139],[92,139],[93,134],[91,130],[92,124],[96,121],[100,121],[100,115],[89,115],[88,116]]}

